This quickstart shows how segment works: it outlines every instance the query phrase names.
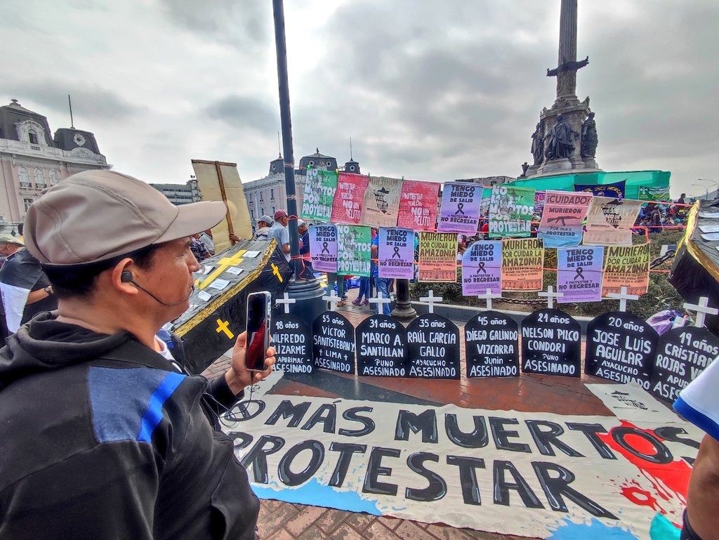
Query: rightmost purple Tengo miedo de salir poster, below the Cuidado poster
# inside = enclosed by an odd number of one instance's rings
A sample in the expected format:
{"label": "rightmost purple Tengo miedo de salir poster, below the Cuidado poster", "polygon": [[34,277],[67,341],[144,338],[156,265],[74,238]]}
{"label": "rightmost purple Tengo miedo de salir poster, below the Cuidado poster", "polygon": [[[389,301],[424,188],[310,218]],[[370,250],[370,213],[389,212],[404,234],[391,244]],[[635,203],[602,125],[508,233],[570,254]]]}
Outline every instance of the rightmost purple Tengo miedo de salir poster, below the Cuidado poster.
{"label": "rightmost purple Tengo miedo de salir poster, below the Cuidado poster", "polygon": [[559,303],[602,300],[604,247],[564,247],[557,250]]}

